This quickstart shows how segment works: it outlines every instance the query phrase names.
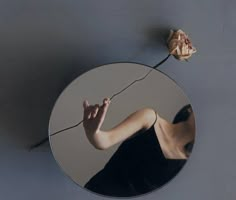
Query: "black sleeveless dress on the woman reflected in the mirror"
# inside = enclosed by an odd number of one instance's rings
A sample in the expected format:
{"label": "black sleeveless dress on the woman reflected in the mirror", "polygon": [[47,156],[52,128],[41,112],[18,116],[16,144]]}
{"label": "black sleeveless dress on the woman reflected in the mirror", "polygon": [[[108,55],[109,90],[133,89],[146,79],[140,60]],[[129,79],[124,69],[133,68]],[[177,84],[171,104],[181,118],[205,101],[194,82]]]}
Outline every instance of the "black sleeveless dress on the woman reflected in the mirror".
{"label": "black sleeveless dress on the woman reflected in the mirror", "polygon": [[102,195],[130,197],[155,190],[173,178],[186,159],[164,157],[154,124],[125,140],[84,187]]}

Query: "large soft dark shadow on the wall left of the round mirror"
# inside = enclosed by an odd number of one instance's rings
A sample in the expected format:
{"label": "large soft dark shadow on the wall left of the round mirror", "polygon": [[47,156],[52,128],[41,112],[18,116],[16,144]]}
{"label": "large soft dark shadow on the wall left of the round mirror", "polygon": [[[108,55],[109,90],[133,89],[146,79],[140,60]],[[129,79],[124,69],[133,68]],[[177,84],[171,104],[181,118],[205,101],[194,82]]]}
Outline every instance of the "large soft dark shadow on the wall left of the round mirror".
{"label": "large soft dark shadow on the wall left of the round mirror", "polygon": [[6,68],[1,68],[1,146],[28,150],[46,138],[57,97],[73,79],[89,70],[88,63],[93,66],[92,62],[45,56],[7,63]]}

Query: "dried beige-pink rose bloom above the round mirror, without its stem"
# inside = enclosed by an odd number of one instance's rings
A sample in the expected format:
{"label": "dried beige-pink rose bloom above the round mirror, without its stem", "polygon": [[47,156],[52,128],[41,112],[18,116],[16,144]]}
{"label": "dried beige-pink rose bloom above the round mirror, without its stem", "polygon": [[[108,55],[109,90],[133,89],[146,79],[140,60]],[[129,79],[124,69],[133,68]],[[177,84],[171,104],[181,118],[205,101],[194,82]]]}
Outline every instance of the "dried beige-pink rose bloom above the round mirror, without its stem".
{"label": "dried beige-pink rose bloom above the round mirror, without its stem", "polygon": [[197,52],[188,35],[180,29],[178,31],[171,30],[167,42],[169,53],[178,60],[187,61],[193,53]]}

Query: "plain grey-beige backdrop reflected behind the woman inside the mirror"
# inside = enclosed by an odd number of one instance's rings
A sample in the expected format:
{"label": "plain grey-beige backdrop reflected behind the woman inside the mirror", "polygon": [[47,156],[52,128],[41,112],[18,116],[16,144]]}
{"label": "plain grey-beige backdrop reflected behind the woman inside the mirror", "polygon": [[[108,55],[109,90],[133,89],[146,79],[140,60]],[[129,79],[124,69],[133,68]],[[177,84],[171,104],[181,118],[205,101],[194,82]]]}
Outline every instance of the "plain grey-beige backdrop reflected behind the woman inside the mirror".
{"label": "plain grey-beige backdrop reflected behind the woman inside the mirror", "polygon": [[[50,134],[83,119],[83,100],[87,99],[91,105],[101,105],[105,97],[111,97],[143,78],[150,70],[150,67],[135,63],[114,63],[82,74],[57,99],[50,117]],[[177,112],[190,103],[173,80],[156,70],[111,101],[101,130],[113,128],[141,108],[152,108],[160,117],[172,122]],[[50,144],[58,164],[81,186],[105,166],[119,146],[96,150],[89,143],[82,124],[52,136]]]}

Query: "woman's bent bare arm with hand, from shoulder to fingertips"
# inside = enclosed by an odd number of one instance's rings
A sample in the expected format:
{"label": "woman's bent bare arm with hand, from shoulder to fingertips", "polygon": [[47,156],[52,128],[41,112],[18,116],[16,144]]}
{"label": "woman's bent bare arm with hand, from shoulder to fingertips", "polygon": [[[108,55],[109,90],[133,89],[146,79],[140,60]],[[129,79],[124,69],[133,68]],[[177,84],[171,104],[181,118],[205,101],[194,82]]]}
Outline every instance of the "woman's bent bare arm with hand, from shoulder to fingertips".
{"label": "woman's bent bare arm with hand, from shoulder to fingertips", "polygon": [[151,108],[142,108],[108,131],[101,130],[110,100],[104,99],[103,105],[89,105],[84,101],[84,129],[90,143],[97,149],[107,149],[129,138],[141,129],[148,129],[156,119]]}

